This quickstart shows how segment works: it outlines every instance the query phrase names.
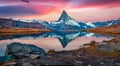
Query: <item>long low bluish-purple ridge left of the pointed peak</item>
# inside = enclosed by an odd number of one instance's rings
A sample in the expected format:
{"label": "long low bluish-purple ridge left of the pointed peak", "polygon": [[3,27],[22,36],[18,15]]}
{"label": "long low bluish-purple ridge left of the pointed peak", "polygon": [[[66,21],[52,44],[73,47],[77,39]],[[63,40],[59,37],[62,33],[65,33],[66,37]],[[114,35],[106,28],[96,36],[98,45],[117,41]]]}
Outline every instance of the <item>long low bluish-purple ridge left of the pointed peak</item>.
{"label": "long low bluish-purple ridge left of the pointed peak", "polygon": [[27,22],[27,21],[0,18],[0,27],[46,29],[46,26],[44,26],[42,23],[38,23],[38,22],[33,23],[33,22]]}

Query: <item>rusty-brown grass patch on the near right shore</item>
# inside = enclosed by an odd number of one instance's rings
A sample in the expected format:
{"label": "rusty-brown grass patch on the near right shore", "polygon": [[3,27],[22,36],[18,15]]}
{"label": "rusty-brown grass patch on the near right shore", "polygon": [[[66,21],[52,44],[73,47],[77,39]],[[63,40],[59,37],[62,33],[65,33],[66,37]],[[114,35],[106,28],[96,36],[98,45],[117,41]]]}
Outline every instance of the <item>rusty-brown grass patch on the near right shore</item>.
{"label": "rusty-brown grass patch on the near right shore", "polygon": [[87,51],[89,53],[89,56],[100,56],[100,57],[120,57],[120,51],[114,50],[112,52],[109,51],[102,51],[97,49],[97,45],[90,44],[87,48],[80,48],[77,50],[77,52],[81,52],[83,50]]}

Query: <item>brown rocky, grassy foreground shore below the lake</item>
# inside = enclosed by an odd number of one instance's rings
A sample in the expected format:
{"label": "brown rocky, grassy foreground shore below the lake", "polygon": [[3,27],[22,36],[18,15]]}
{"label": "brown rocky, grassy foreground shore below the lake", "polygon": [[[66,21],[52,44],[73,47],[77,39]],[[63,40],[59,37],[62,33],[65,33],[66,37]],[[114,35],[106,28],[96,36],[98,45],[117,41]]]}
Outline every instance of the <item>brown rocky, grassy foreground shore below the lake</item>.
{"label": "brown rocky, grassy foreground shore below the lake", "polygon": [[[14,45],[16,44],[17,43],[14,43]],[[28,47],[26,45],[22,45],[22,47],[23,46]],[[19,52],[17,50],[17,53],[8,53],[7,56],[13,55],[14,58],[10,61],[1,63],[1,66],[120,66],[120,37],[116,37],[112,40],[103,42],[92,41],[88,44],[85,44],[83,48],[71,51],[57,52],[54,50],[50,50],[44,56],[37,54],[40,51],[30,49],[29,47],[26,49],[26,51],[28,51],[28,49],[29,53],[23,53],[24,50],[22,51],[21,49],[19,49],[21,50]],[[13,50],[11,50],[11,52],[12,51]],[[36,53],[32,53],[31,51],[36,51]],[[24,56],[26,53],[28,53],[28,57]],[[19,56],[18,54],[21,54],[21,56]]]}

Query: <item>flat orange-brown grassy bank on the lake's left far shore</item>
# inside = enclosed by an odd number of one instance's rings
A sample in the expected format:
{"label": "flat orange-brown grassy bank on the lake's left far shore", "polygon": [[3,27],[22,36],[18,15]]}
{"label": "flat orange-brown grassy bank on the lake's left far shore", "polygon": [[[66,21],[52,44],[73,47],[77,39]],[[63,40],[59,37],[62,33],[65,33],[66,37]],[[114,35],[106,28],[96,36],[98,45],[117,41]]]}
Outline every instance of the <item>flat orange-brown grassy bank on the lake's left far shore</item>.
{"label": "flat orange-brown grassy bank on the lake's left far shore", "polygon": [[50,32],[48,29],[36,28],[0,28],[0,36],[16,35],[16,34],[38,34],[42,32]]}

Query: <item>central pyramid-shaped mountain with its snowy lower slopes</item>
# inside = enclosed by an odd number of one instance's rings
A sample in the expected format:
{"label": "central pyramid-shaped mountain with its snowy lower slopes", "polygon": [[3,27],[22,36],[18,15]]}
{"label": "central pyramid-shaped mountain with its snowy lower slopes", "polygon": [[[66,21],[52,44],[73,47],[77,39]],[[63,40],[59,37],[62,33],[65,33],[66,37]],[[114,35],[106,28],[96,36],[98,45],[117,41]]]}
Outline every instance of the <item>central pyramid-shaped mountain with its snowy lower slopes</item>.
{"label": "central pyramid-shaped mountain with its snowy lower slopes", "polygon": [[78,23],[78,21],[68,16],[65,11],[62,12],[60,18],[57,21],[50,22],[46,24],[46,26],[57,31],[80,29],[80,24]]}

